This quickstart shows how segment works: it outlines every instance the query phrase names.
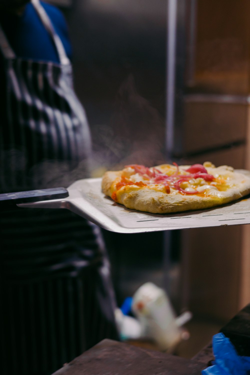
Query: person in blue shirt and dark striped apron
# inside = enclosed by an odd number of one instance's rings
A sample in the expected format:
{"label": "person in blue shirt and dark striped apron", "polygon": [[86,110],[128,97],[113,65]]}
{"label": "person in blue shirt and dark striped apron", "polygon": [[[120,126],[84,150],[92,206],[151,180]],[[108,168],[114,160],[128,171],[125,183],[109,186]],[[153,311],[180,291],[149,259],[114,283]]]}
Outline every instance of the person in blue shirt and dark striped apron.
{"label": "person in blue shirt and dark striped apron", "polygon": [[[87,177],[91,138],[61,12],[0,0],[0,192]],[[1,374],[51,374],[118,339],[100,229],[68,210],[1,212]]]}

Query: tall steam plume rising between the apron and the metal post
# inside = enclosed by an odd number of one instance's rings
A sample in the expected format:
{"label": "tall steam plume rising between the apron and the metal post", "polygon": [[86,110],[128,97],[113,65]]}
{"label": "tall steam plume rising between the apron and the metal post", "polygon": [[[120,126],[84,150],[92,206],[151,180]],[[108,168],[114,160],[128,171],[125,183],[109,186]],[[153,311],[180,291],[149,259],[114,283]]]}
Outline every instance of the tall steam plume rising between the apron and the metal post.
{"label": "tall steam plume rising between the apron and the metal post", "polygon": [[120,169],[129,163],[165,162],[165,123],[159,111],[136,90],[132,75],[121,84],[110,121],[97,127],[94,166]]}

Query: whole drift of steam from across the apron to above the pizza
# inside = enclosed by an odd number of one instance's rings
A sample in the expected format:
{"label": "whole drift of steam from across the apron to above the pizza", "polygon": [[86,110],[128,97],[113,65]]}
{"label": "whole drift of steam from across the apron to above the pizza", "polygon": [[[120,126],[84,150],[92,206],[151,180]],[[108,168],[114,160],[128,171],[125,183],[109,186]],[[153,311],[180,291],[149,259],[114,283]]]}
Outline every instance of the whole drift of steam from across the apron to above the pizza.
{"label": "whole drift of steam from across the apron to above the pizza", "polygon": [[28,168],[30,160],[21,150],[2,151],[2,190],[69,187],[76,180],[90,177],[91,170],[164,163],[165,123],[150,101],[139,95],[132,75],[121,84],[114,108],[108,123],[97,126],[93,134],[91,160],[42,160]]}

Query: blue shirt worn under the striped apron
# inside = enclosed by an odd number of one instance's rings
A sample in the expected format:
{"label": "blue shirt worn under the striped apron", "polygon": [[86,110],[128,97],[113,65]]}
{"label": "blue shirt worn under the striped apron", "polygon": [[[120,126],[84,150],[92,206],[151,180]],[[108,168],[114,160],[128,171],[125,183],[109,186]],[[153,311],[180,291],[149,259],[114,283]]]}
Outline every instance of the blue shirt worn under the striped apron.
{"label": "blue shirt worn under the striped apron", "polygon": [[[41,4],[71,59],[72,49],[63,14],[52,5],[43,1]],[[21,17],[7,12],[1,13],[0,24],[17,57],[59,63],[54,42],[31,3],[27,4]]]}

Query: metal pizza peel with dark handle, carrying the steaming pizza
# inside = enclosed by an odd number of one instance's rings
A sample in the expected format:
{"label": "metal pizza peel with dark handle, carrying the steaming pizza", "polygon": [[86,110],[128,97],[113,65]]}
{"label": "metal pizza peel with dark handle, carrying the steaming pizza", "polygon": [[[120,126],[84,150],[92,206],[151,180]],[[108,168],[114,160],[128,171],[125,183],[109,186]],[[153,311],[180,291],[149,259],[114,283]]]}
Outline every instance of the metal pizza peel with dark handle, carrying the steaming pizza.
{"label": "metal pizza peel with dark handle, carrying the steaming pizza", "polygon": [[[56,190],[51,196],[48,190]],[[101,191],[101,178],[86,178],[78,180],[67,189],[45,189],[40,192],[40,201],[25,202],[12,193],[11,203],[26,208],[66,208],[91,222],[117,233],[144,233],[166,231],[173,229],[204,228],[211,226],[226,226],[250,224],[250,195],[222,206],[206,210],[185,211],[175,214],[151,214],[130,210],[115,203]],[[60,196],[57,196],[61,194]],[[28,192],[25,192],[27,195]],[[23,194],[23,193],[17,193]],[[47,195],[46,195],[47,194]],[[5,195],[5,194],[3,194]],[[10,194],[11,195],[11,194]],[[31,194],[32,195],[32,194]],[[57,198],[57,199],[55,199]],[[27,199],[27,198],[26,198]],[[0,195],[1,203],[1,195]],[[1,204],[0,204],[1,208]]]}

